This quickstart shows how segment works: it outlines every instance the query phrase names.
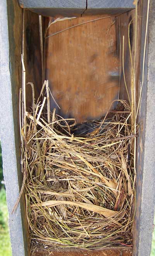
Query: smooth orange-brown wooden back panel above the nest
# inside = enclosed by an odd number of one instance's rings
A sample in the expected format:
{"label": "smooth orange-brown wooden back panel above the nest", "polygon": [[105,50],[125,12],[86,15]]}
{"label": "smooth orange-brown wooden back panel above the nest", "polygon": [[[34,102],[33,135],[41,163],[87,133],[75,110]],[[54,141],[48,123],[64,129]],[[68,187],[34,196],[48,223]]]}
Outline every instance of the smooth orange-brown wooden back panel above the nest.
{"label": "smooth orange-brown wooden back panel above the nest", "polygon": [[[57,22],[47,35],[104,16]],[[119,90],[115,18],[76,26],[45,39],[45,79],[60,105],[57,113],[77,122],[100,118]],[[51,100],[51,109],[55,103]]]}

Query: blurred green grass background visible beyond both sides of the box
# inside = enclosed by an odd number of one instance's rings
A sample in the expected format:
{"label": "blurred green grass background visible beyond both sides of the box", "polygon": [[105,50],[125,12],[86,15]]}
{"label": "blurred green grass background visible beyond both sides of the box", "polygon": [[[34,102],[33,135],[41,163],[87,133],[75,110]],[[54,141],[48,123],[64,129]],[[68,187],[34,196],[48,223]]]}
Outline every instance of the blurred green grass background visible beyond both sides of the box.
{"label": "blurred green grass background visible beyond both sides of the box", "polygon": [[[8,210],[6,202],[5,186],[3,184],[2,149],[0,145],[0,256],[12,256],[9,227]],[[152,251],[150,256],[155,256],[155,230],[152,238]]]}

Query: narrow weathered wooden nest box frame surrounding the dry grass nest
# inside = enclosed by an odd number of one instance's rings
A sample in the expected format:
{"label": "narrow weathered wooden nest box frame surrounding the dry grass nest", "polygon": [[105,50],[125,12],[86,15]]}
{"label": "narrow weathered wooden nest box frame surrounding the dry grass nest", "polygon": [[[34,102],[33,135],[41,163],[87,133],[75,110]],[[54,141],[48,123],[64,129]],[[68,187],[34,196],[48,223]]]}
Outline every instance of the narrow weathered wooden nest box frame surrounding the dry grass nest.
{"label": "narrow weathered wooden nest box frame surrounding the dry grass nest", "polygon": [[[19,135],[21,53],[24,54],[26,82],[34,83],[36,98],[40,94],[45,75],[54,97],[61,106],[61,115],[74,116],[78,121],[98,118],[106,113],[110,103],[117,99],[118,94],[121,99],[127,99],[122,72],[122,44],[124,36],[124,72],[127,86],[130,86],[128,26],[132,19],[129,40],[131,54],[134,55],[133,45],[137,37],[136,84],[139,92],[143,83],[136,159],[133,249],[126,247],[121,249],[112,247],[101,251],[62,249],[53,251],[52,255],[150,255],[155,206],[155,1],[139,1],[136,33],[135,2],[19,0],[19,6],[17,0],[3,0],[0,5],[0,137],[13,256],[30,255],[24,195],[15,213],[11,214],[22,184]],[[150,2],[150,10],[145,50],[148,2]],[[26,8],[24,12],[21,7]],[[44,15],[41,18],[43,34],[51,19],[49,16],[53,20],[58,17],[77,17],[50,26],[46,36],[54,35],[43,39],[45,40],[44,63],[37,13]],[[109,18],[103,19],[103,15]],[[76,26],[79,23],[84,24]],[[72,28],[65,30],[68,27]],[[59,33],[61,30],[65,31]],[[31,106],[31,91],[28,88],[26,94],[27,106]],[[47,254],[38,250],[35,255]]]}

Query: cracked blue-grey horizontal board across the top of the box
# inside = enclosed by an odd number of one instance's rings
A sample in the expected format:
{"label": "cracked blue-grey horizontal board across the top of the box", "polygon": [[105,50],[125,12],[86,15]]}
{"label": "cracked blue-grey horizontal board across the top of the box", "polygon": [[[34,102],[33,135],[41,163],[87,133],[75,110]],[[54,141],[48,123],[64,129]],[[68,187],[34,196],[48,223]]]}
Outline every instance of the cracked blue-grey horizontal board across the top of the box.
{"label": "cracked blue-grey horizontal board across the top of the box", "polygon": [[[85,14],[120,14],[135,8],[134,0],[19,0],[21,7],[45,16]],[[86,8],[87,6],[87,8]]]}

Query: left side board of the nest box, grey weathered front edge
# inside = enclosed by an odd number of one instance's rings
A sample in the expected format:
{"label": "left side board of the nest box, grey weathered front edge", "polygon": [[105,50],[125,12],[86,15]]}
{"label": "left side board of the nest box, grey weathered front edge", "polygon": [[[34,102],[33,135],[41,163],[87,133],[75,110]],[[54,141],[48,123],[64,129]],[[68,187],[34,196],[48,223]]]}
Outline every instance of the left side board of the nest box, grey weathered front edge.
{"label": "left side board of the nest box, grey weathered front edge", "polygon": [[[3,97],[3,101],[1,102],[3,104],[2,111],[5,116],[5,118],[1,116],[3,120],[3,124],[1,124],[1,128],[3,129],[1,142],[2,145],[5,145],[5,147],[2,147],[2,150],[5,155],[5,157],[3,155],[3,171],[9,210],[9,230],[12,254],[30,256],[24,194],[21,196],[20,206],[14,214],[11,214],[19,196],[23,178],[21,173],[21,139],[19,131],[19,89],[22,85],[22,9],[19,7],[17,0],[3,1],[0,5],[2,7],[0,9],[3,12],[0,26],[1,31],[4,31],[2,37],[5,43],[5,48],[2,49],[2,51],[6,59],[9,60],[7,66],[5,66],[5,58],[3,58],[3,62],[1,62],[5,69],[5,81],[3,84],[5,91],[3,91],[3,86],[1,87],[1,97]],[[5,16],[5,9],[3,9],[5,5],[7,8],[7,16]],[[9,38],[7,36],[9,36]],[[7,55],[5,55],[6,51]],[[1,77],[1,82],[3,83],[3,77]],[[8,149],[10,149],[10,151]]]}

